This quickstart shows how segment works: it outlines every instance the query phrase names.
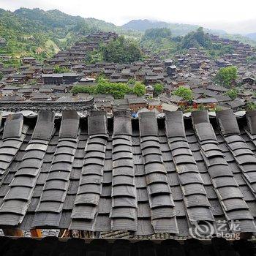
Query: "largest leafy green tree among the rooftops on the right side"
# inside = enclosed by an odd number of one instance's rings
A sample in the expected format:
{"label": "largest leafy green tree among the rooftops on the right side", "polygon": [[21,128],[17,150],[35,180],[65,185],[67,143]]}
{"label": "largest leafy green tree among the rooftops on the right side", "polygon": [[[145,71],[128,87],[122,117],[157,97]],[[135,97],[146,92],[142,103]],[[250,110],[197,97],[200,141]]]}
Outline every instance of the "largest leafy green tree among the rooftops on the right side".
{"label": "largest leafy green tree among the rooftops on the right side", "polygon": [[217,83],[219,86],[225,86],[227,88],[230,88],[233,80],[236,80],[237,78],[237,67],[222,67],[215,75],[214,82]]}

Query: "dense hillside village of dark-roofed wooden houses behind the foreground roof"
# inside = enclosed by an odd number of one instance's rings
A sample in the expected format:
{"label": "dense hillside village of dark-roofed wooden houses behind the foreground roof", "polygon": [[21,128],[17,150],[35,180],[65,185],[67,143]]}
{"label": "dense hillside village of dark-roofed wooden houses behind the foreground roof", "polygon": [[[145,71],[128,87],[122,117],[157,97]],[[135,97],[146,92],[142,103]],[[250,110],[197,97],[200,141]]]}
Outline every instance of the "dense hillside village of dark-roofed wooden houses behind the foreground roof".
{"label": "dense hillside village of dark-roofed wooden houses behind the foreground roof", "polygon": [[[246,110],[256,102],[256,62],[248,62],[248,57],[256,56],[256,49],[236,40],[222,39],[208,34],[213,42],[231,45],[232,54],[225,54],[221,59],[210,58],[205,50],[189,48],[187,53],[167,58],[165,53],[153,54],[145,50],[147,58],[131,64],[108,63],[98,61],[86,64],[86,56],[118,38],[115,32],[96,32],[76,42],[68,50],[60,51],[52,59],[39,62],[34,57],[21,59],[21,66],[5,67],[10,56],[0,56],[0,104],[10,102],[81,102],[93,97],[94,108],[106,110],[110,115],[115,110],[130,110],[132,116],[140,112],[197,109]],[[4,40],[1,40],[4,42]],[[1,47],[1,46],[0,46]],[[214,83],[214,77],[222,67],[238,67],[238,78],[233,80],[232,88],[237,89],[235,98],[227,95],[229,89]],[[62,72],[56,72],[56,67]],[[72,93],[74,86],[95,86],[100,76],[110,83],[140,81],[145,84],[144,95],[127,94],[124,99],[115,99],[110,94]],[[154,91],[156,84],[162,84],[162,91]],[[192,98],[187,100],[173,94],[178,87],[192,90]],[[252,102],[252,103],[250,103]],[[20,104],[19,104],[20,105]]]}

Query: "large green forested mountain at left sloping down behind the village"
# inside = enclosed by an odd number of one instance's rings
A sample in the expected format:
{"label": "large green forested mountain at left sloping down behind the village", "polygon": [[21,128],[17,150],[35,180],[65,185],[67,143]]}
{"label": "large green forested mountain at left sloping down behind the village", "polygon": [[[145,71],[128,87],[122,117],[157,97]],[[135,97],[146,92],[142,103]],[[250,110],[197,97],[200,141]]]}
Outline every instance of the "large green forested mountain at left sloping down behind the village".
{"label": "large green forested mountain at left sloping down behind the village", "polygon": [[20,8],[10,12],[0,9],[0,38],[7,42],[0,47],[0,53],[44,59],[67,48],[80,36],[100,30],[117,31],[118,28],[103,20],[67,15],[59,10]]}

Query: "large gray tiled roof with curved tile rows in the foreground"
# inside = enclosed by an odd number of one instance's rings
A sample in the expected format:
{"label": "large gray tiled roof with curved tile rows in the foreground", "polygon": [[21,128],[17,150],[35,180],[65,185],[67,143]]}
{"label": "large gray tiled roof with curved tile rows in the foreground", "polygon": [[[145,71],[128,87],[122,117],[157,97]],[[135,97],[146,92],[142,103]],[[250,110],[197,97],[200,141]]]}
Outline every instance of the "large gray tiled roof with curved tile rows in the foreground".
{"label": "large gray tiled roof with curved tile rows in the foreground", "polygon": [[187,236],[195,222],[238,220],[256,232],[255,111],[42,111],[1,123],[0,228]]}

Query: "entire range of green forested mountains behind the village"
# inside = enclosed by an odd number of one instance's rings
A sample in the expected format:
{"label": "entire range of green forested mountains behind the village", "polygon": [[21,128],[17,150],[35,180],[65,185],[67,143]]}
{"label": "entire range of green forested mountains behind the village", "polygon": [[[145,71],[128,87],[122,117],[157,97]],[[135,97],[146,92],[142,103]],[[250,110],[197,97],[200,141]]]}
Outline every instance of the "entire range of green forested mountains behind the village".
{"label": "entire range of green forested mountains behind the village", "polygon": [[[187,48],[185,41],[196,35],[189,33],[198,28],[199,26],[151,20],[132,20],[120,27],[95,18],[67,15],[59,10],[20,8],[10,12],[0,9],[0,39],[6,41],[6,45],[0,45],[0,54],[14,56],[16,61],[23,56],[43,60],[95,31],[116,31],[125,37],[136,39],[143,48],[156,53],[175,53],[178,49]],[[218,34],[218,31],[215,32],[212,31],[213,34]],[[256,42],[240,35],[223,34],[223,31],[219,33],[222,37],[256,45]],[[187,34],[189,35],[186,36]],[[195,40],[192,42],[197,45]],[[199,44],[199,47],[202,45]]]}

